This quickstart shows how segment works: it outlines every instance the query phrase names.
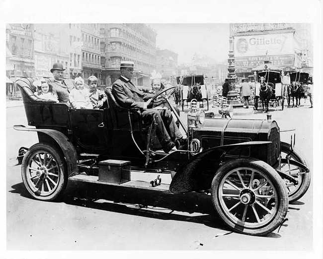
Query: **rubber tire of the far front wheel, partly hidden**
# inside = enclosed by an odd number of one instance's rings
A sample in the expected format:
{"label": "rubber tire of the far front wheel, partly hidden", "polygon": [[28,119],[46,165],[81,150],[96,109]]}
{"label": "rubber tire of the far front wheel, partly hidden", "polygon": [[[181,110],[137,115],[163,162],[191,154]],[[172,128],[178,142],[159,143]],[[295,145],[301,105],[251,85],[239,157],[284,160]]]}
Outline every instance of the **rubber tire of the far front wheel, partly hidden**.
{"label": "rubber tire of the far front wheel, partly hidden", "polygon": [[[286,142],[280,142],[280,151],[281,152],[284,151],[286,154],[289,153],[291,151],[291,145]],[[303,165],[305,165],[307,168],[309,168],[305,158],[297,148],[295,147],[293,148],[293,153],[291,154],[291,156],[293,160],[300,162]],[[302,179],[302,182],[299,190],[295,194],[288,196],[289,203],[293,203],[294,201],[300,199],[307,192],[307,190],[309,190],[309,187],[311,184],[311,173],[303,174],[301,179]]]}

